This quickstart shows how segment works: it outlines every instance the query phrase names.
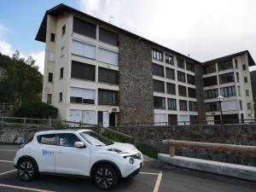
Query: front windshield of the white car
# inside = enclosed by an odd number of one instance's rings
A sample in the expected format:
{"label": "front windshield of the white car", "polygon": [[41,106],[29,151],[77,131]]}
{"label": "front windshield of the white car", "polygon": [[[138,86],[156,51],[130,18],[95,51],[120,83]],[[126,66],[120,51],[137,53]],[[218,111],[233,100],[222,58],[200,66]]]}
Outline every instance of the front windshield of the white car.
{"label": "front windshield of the white car", "polygon": [[94,131],[85,131],[81,132],[80,135],[90,144],[95,146],[106,146],[113,144],[112,141],[110,141],[106,137],[102,137],[101,135],[97,134]]}

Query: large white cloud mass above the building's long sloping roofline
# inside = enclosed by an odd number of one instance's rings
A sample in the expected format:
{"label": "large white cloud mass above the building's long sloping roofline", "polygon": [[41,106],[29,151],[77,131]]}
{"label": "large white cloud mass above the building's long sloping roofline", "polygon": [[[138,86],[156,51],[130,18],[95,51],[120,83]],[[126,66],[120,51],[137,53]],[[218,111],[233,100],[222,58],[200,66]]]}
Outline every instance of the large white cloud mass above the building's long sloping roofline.
{"label": "large white cloud mass above the building's long sloping roofline", "polygon": [[253,0],[79,0],[79,7],[199,61],[244,49],[256,60]]}

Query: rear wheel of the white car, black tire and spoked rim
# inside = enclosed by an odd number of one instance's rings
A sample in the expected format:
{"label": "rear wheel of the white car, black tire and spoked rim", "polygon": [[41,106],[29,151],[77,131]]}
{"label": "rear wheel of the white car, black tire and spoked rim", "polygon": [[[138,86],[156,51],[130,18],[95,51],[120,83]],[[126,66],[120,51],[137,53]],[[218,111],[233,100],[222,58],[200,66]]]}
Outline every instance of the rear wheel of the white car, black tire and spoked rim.
{"label": "rear wheel of the white car, black tire and spoked rim", "polygon": [[31,181],[38,176],[38,167],[32,160],[20,160],[18,165],[18,176],[22,181]]}

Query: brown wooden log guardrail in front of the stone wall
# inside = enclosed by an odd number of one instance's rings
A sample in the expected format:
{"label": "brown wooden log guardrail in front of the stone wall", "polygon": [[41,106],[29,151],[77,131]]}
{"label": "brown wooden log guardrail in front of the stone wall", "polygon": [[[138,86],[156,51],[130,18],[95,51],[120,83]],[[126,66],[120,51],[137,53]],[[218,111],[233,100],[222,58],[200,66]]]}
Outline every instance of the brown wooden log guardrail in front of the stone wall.
{"label": "brown wooden log guardrail in front of the stone wall", "polygon": [[241,154],[256,154],[256,146],[248,145],[234,145],[222,143],[201,143],[201,142],[188,142],[177,140],[163,140],[163,144],[169,146],[169,154],[171,157],[175,156],[175,148],[205,148],[209,150],[230,151]]}

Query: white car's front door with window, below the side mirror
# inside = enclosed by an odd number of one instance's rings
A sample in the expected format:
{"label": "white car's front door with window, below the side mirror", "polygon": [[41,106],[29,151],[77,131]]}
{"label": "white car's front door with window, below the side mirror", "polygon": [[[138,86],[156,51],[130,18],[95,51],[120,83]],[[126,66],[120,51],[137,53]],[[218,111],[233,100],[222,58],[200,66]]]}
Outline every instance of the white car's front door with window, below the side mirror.
{"label": "white car's front door with window, below the side mirror", "polygon": [[90,176],[90,148],[74,147],[74,143],[81,140],[73,133],[60,133],[57,141],[55,172]]}

